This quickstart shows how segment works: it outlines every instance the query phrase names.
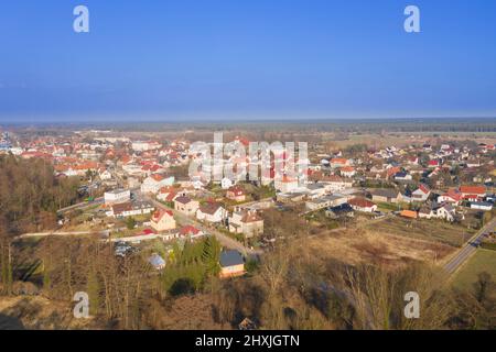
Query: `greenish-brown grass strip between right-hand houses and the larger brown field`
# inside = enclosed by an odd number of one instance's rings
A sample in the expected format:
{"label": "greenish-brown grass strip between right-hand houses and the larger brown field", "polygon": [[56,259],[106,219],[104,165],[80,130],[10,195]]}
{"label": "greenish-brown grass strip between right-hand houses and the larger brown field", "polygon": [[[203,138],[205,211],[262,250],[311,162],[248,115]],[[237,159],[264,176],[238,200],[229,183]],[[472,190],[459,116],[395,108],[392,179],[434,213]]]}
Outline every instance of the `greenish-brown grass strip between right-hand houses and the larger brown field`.
{"label": "greenish-brown grass strip between right-hand houses and the larger brown field", "polygon": [[473,232],[466,228],[442,220],[410,220],[399,217],[390,217],[380,222],[371,222],[365,228],[371,232],[440,242],[452,246],[461,246],[473,235]]}

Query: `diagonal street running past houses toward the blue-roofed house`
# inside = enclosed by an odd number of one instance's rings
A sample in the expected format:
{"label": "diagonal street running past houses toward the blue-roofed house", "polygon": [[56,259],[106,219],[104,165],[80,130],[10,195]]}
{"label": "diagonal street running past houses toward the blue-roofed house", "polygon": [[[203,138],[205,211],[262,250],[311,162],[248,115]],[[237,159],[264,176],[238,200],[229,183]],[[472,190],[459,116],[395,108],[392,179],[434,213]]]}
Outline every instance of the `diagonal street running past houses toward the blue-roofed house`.
{"label": "diagonal street running past houses toward the blue-roofed house", "polygon": [[213,229],[211,227],[206,227],[202,222],[200,222],[198,220],[196,220],[194,218],[190,218],[190,217],[185,216],[182,212],[179,212],[179,211],[176,211],[176,210],[174,210],[172,208],[169,208],[168,206],[161,204],[160,201],[158,201],[158,200],[155,200],[155,199],[153,199],[153,198],[151,198],[149,196],[142,195],[139,191],[136,191],[134,194],[137,195],[138,198],[142,198],[142,199],[145,199],[145,200],[150,201],[157,208],[164,209],[164,210],[171,210],[172,213],[174,215],[174,218],[176,220],[179,220],[179,222],[182,226],[192,224],[192,226],[196,227],[197,229],[202,230],[205,233],[212,233],[212,234],[214,234],[217,238],[217,240],[220,242],[222,245],[224,245],[224,246],[226,246],[228,249],[231,249],[231,250],[237,250],[240,253],[242,253],[245,256],[246,255],[257,256],[257,255],[260,255],[261,253],[263,253],[260,250],[249,249],[249,248],[242,245],[242,243],[239,243],[238,241],[236,241],[236,240],[229,238],[228,235],[222,233],[220,231],[217,231],[216,229]]}

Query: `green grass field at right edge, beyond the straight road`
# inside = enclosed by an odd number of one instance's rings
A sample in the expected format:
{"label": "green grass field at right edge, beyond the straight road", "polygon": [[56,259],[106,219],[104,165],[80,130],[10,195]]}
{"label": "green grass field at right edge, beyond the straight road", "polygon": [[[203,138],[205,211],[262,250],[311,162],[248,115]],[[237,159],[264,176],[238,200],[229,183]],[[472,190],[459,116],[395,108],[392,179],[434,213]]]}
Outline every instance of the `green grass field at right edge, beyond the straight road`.
{"label": "green grass field at right edge, beyond the straight road", "polygon": [[455,274],[453,286],[456,288],[471,288],[477,280],[477,275],[487,272],[496,279],[496,251],[477,250],[475,254]]}

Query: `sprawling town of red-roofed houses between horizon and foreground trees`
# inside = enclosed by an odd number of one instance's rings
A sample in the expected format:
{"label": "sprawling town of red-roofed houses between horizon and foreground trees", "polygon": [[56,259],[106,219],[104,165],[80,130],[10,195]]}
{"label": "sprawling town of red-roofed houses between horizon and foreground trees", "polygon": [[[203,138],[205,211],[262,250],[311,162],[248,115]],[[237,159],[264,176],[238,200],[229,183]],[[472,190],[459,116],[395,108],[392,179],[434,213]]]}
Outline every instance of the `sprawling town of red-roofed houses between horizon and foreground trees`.
{"label": "sprawling town of red-roofed houses between horizon and foreground trees", "polygon": [[[204,289],[212,275],[250,280],[270,261],[267,256],[293,246],[346,265],[393,268],[422,262],[463,285],[475,279],[461,273],[478,255],[474,252],[496,248],[492,132],[473,134],[475,141],[463,133],[367,132],[370,142],[364,143],[362,132],[302,131],[304,161],[283,148],[271,151],[269,161],[227,153],[216,166],[191,148],[200,135],[175,129],[42,134],[4,129],[0,157],[6,165],[42,163],[54,183],[74,189],[73,198],[58,201],[53,222],[35,217],[11,229],[20,253],[32,241],[44,249],[50,239],[93,239],[110,245],[116,265],[138,258],[152,270],[147,275],[160,277],[160,292],[181,296]],[[269,142],[288,141],[294,134],[291,125],[287,130]],[[233,128],[225,139],[248,147],[257,135]],[[203,134],[212,150],[218,148],[212,136]],[[274,165],[278,156],[282,169]],[[198,161],[202,167],[192,174],[190,166]],[[209,177],[215,167],[248,170],[261,163],[268,163],[267,177]],[[305,168],[290,173],[294,165]],[[37,292],[26,283],[55,275],[46,272],[47,254],[40,255],[29,268],[19,268],[18,290]],[[260,323],[251,319],[246,315],[239,327]]]}

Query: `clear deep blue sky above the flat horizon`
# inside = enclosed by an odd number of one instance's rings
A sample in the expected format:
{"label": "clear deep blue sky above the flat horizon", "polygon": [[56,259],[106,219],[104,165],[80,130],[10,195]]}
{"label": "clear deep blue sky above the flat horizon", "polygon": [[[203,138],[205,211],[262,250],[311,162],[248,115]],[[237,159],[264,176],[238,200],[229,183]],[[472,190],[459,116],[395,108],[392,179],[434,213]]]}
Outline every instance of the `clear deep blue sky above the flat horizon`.
{"label": "clear deep blue sky above the flat horizon", "polygon": [[0,123],[422,117],[496,117],[496,1],[1,6]]}

